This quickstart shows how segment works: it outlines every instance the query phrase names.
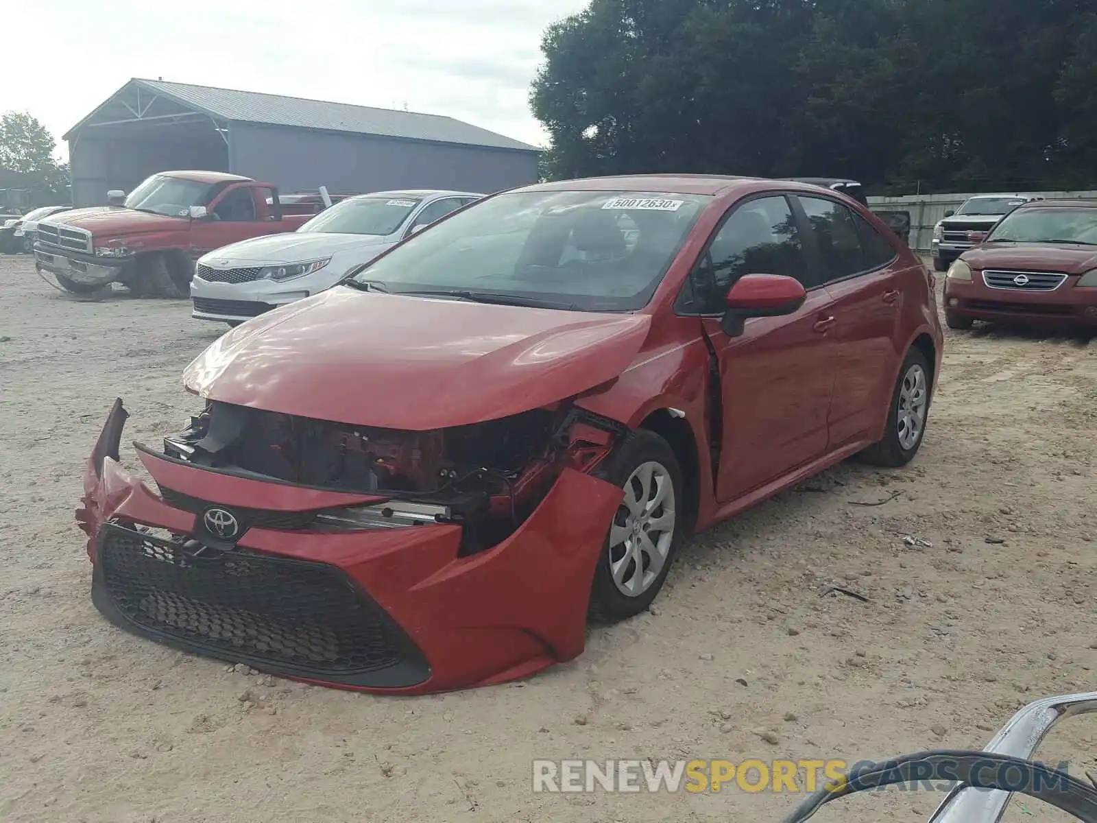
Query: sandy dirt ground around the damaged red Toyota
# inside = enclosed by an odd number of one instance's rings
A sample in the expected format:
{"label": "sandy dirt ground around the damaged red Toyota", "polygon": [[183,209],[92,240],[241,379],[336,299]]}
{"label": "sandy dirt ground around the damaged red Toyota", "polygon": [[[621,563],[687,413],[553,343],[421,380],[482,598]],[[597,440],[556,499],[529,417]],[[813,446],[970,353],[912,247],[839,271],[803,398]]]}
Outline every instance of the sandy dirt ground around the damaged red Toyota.
{"label": "sandy dirt ground around the damaged red Toyota", "polygon": [[[649,615],[568,665],[397,699],[237,674],[99,616],[72,514],[92,442],[115,396],[124,442],[177,428],[181,370],[224,329],[180,301],[76,301],[22,257],[0,257],[0,820],[779,820],[794,796],[535,794],[530,762],[981,747],[1021,704],[1097,688],[1097,339],[950,334],[911,466],[840,465],[695,539]],[[1040,754],[1097,776],[1095,744],[1081,718]],[[1007,819],[1062,818],[1015,798]]]}

